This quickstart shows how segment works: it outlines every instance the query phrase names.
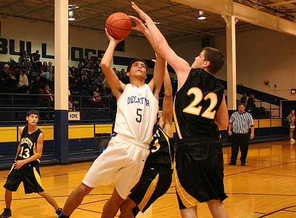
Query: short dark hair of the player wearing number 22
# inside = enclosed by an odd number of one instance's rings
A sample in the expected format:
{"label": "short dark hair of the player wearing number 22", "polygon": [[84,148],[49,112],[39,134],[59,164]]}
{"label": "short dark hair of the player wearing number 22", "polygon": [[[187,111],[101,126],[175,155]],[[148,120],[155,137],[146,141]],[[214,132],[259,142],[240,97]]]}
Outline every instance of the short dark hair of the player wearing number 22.
{"label": "short dark hair of the player wearing number 22", "polygon": [[208,70],[211,74],[216,74],[224,65],[225,56],[224,54],[216,48],[204,47],[202,49],[204,52],[204,60],[209,61],[210,65]]}

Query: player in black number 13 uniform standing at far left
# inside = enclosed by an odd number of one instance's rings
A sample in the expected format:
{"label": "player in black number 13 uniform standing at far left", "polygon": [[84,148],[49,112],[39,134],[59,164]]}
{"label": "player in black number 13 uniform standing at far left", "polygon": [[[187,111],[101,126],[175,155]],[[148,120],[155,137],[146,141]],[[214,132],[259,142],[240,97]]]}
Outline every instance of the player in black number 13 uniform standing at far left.
{"label": "player in black number 13 uniform standing at far left", "polygon": [[0,218],[11,216],[12,192],[17,190],[21,182],[23,182],[25,194],[38,193],[54,207],[57,215],[60,215],[62,211],[62,208],[59,208],[53,197],[44,190],[41,183],[39,159],[42,156],[43,133],[36,126],[38,120],[39,112],[31,109],[27,112],[28,125],[19,128],[20,140],[15,163],[12,165],[6,183],[3,186],[6,189],[4,196],[6,208],[4,208]]}

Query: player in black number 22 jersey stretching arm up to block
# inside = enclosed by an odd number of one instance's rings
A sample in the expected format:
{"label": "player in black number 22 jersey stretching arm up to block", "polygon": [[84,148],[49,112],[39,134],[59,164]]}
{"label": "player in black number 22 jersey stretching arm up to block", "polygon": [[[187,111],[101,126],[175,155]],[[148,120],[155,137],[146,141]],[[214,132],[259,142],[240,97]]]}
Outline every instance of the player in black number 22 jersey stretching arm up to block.
{"label": "player in black number 22 jersey stretching arm up to block", "polygon": [[176,150],[176,189],[181,216],[196,218],[197,204],[207,202],[213,217],[228,218],[223,205],[223,154],[219,129],[227,129],[224,88],[214,78],[225,62],[217,49],[203,48],[190,66],[167,44],[152,19],[132,2],[145,20],[156,50],[174,68],[178,92],[174,120],[179,136]]}

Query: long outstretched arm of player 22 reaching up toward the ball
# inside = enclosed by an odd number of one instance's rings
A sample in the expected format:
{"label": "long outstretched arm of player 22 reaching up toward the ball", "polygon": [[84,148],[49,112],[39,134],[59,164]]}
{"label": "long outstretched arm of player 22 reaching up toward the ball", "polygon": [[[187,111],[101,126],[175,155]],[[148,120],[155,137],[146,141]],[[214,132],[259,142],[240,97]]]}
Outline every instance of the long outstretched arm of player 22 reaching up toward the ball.
{"label": "long outstretched arm of player 22 reaching up toward the ball", "polygon": [[134,2],[132,2],[132,8],[139,14],[142,19],[145,20],[157,52],[159,52],[176,71],[178,77],[178,87],[180,88],[184,84],[190,72],[190,65],[188,64],[188,62],[179,57],[171,47],[169,47],[163,34],[155,26],[153,20],[146,13],[144,13]]}

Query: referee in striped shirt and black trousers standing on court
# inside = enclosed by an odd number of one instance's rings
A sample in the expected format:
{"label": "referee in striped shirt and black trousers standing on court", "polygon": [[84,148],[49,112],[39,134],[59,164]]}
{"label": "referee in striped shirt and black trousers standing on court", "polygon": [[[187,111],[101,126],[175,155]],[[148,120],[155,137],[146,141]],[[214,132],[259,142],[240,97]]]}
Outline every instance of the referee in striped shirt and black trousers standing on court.
{"label": "referee in striped shirt and black trousers standing on court", "polygon": [[[229,120],[228,135],[231,139],[231,157],[228,165],[236,165],[238,149],[241,149],[241,166],[246,166],[247,150],[249,146],[248,131],[251,127],[250,139],[254,139],[254,122],[252,115],[245,112],[245,105],[238,104],[238,111],[234,112]],[[232,128],[232,131],[231,131]]]}

